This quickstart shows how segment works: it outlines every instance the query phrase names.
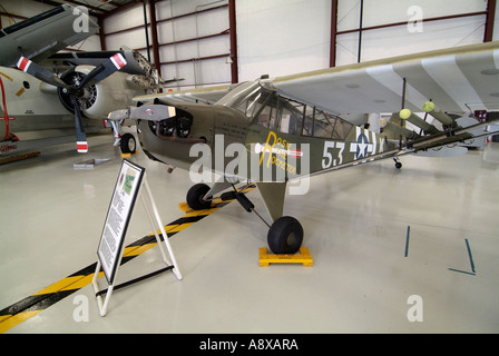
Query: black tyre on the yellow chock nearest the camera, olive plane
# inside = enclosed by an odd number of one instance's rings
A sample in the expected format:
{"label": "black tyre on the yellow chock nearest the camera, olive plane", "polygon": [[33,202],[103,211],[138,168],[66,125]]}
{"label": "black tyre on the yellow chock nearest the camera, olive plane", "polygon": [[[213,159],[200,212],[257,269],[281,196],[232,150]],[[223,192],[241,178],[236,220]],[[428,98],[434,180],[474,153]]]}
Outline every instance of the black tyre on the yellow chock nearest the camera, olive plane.
{"label": "black tyre on the yellow chock nearest the camera, olive plane", "polygon": [[278,218],[268,229],[267,243],[274,254],[297,253],[303,243],[302,225],[291,216]]}

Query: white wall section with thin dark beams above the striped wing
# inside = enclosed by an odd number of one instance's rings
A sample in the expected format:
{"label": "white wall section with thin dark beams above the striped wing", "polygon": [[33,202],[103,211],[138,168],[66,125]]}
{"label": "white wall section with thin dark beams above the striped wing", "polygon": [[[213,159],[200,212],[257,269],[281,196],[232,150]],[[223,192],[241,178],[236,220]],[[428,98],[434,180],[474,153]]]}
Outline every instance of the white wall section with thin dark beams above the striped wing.
{"label": "white wall section with thin dark beams above the striped wing", "polygon": [[[364,28],[408,23],[364,31],[361,61],[482,42],[485,14],[437,22],[415,22],[415,19],[418,16],[430,19],[486,9],[483,0],[365,0]],[[337,31],[359,29],[359,20],[360,0],[339,0]],[[359,33],[339,34],[336,43],[336,66],[356,62]]]}

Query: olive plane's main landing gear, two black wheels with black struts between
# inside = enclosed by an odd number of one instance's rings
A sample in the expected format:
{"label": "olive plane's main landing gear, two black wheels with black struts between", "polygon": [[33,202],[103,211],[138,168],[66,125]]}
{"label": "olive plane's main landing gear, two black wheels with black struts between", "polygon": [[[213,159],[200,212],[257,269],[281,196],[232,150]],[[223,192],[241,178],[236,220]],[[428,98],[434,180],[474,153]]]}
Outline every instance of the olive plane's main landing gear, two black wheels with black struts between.
{"label": "olive plane's main landing gear, two black wheels with black struts between", "polygon": [[[205,184],[197,184],[193,186],[187,192],[187,205],[193,210],[208,209],[212,206],[211,199],[205,197],[208,195],[211,188]],[[274,254],[295,254],[300,250],[303,243],[303,228],[295,218],[291,216],[282,216],[268,225],[258,212],[252,201],[241,191],[234,189],[222,194],[223,201],[237,200],[242,207],[247,211],[254,211],[262,221],[268,227],[267,243],[268,247]]]}

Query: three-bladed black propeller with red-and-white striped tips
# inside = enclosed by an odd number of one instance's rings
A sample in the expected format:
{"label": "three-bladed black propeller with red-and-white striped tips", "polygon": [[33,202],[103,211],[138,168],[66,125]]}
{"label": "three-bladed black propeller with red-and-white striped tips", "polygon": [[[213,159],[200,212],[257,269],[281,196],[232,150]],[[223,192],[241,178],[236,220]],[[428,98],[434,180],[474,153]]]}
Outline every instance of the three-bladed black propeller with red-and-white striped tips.
{"label": "three-bladed black propeller with red-and-white striped tips", "polygon": [[71,103],[75,108],[75,128],[76,128],[76,144],[77,144],[77,150],[80,154],[88,151],[88,142],[87,142],[87,136],[85,134],[84,129],[84,122],[81,120],[82,113],[81,113],[81,107],[79,103],[79,98],[82,98],[85,95],[85,88],[92,86],[114,72],[120,70],[123,67],[127,65],[127,61],[121,56],[121,53],[116,53],[96,68],[94,68],[78,85],[68,85],[63,82],[60,78],[55,76],[51,71],[48,69],[32,62],[26,57],[21,57],[18,61],[18,68],[37,79],[62,88],[68,95],[71,100]]}

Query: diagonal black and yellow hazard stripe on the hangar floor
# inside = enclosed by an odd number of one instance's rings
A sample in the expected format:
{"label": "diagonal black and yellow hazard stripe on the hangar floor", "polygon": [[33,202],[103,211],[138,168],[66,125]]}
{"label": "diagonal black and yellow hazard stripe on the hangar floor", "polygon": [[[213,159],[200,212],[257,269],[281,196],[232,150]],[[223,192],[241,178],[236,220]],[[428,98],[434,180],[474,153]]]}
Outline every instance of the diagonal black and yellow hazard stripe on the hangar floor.
{"label": "diagonal black and yellow hazard stripe on the hangar floor", "polygon": [[[252,190],[253,187],[247,188],[244,192]],[[232,200],[214,201],[214,206],[211,209],[192,211],[185,207],[185,204],[180,204],[179,207],[186,215],[182,218],[172,221],[165,226],[165,233],[167,237],[172,237],[177,233],[186,229],[187,227],[196,224],[203,218],[209,216],[216,210],[221,209]],[[158,231],[159,238],[163,239],[162,233]],[[121,265],[128,263],[135,257],[144,254],[150,248],[157,245],[155,234],[151,233],[135,243],[128,245],[124,249]],[[25,299],[12,304],[11,306],[0,310],[0,334],[11,329],[12,327],[21,324],[22,322],[33,317],[38,313],[55,305],[59,300],[62,300],[67,296],[89,285],[94,278],[94,273],[97,267],[97,261],[74,273],[72,275],[56,281],[55,284],[35,293],[33,295],[26,297]],[[104,273],[99,273],[99,278],[104,276]]]}

